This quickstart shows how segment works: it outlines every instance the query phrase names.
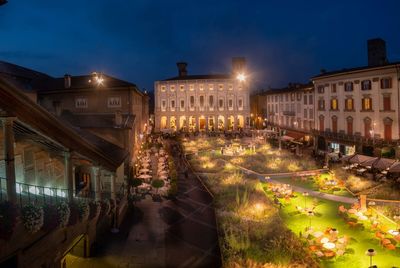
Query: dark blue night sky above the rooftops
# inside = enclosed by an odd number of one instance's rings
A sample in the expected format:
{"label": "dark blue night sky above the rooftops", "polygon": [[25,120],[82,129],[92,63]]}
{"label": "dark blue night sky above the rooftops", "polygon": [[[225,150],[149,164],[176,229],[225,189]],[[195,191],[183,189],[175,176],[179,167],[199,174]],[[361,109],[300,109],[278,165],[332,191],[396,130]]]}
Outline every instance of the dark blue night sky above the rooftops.
{"label": "dark blue night sky above the rooftops", "polygon": [[230,71],[245,56],[252,82],[278,87],[367,64],[366,40],[400,60],[400,1],[9,0],[0,60],[53,76],[91,71],[153,88],[175,76]]}

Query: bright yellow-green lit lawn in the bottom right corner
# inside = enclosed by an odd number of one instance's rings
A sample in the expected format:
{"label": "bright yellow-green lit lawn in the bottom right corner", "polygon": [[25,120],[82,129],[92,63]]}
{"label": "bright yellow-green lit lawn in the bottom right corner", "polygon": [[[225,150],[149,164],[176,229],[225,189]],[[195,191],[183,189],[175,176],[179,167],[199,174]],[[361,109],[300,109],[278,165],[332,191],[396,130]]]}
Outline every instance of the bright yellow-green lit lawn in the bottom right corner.
{"label": "bright yellow-green lit lawn in the bottom right corner", "polygon": [[[308,206],[312,203],[314,198],[307,197],[306,202]],[[281,217],[286,225],[295,234],[304,232],[305,228],[309,226],[309,218],[304,214],[298,214],[295,206],[304,206],[305,197],[298,194],[298,197],[292,199],[290,203],[285,203],[281,200],[284,207],[281,209]],[[373,263],[378,267],[393,267],[400,264],[400,249],[389,251],[379,245],[379,241],[375,238],[374,232],[365,230],[350,229],[343,218],[338,216],[337,208],[340,203],[318,200],[319,203],[315,209],[316,215],[312,217],[311,225],[315,230],[325,230],[327,227],[336,228],[339,230],[340,235],[348,235],[351,242],[348,249],[353,253],[346,253],[344,256],[329,260],[322,261],[323,267],[368,267],[369,258],[365,256],[365,251],[369,248],[374,248],[377,255],[373,258]],[[392,226],[395,228],[395,226]]]}

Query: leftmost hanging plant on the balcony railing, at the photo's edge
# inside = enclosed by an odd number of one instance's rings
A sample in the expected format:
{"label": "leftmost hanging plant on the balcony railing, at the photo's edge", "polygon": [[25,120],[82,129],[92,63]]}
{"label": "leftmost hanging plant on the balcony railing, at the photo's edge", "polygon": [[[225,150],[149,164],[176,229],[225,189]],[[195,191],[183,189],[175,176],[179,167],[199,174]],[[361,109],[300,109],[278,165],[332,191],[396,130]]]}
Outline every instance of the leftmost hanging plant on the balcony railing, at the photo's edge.
{"label": "leftmost hanging plant on the balcony railing, at the photo's edge", "polygon": [[0,203],[0,239],[10,239],[17,224],[17,208],[9,201]]}

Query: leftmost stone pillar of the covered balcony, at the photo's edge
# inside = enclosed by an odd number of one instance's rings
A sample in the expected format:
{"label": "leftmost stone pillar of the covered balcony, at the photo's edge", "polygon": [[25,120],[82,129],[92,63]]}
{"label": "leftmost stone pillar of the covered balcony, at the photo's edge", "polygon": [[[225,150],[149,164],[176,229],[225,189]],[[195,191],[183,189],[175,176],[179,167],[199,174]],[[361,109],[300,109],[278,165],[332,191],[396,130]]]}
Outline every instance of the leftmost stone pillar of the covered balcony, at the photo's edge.
{"label": "leftmost stone pillar of the covered balcony, at the photo's edge", "polygon": [[4,160],[6,168],[7,198],[8,201],[17,202],[15,162],[14,162],[14,120],[13,117],[2,118],[4,137]]}

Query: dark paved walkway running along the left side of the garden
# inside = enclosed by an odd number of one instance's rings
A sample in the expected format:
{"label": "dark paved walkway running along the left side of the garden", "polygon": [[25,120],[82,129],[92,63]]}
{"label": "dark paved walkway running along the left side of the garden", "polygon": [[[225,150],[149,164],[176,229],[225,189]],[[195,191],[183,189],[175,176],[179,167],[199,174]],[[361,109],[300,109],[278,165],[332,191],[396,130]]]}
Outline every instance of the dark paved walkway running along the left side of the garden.
{"label": "dark paved walkway running along the left side of the garden", "polygon": [[146,196],[119,234],[106,233],[92,258],[70,256],[67,267],[221,267],[213,198],[179,153],[173,157],[176,198],[156,202]]}

